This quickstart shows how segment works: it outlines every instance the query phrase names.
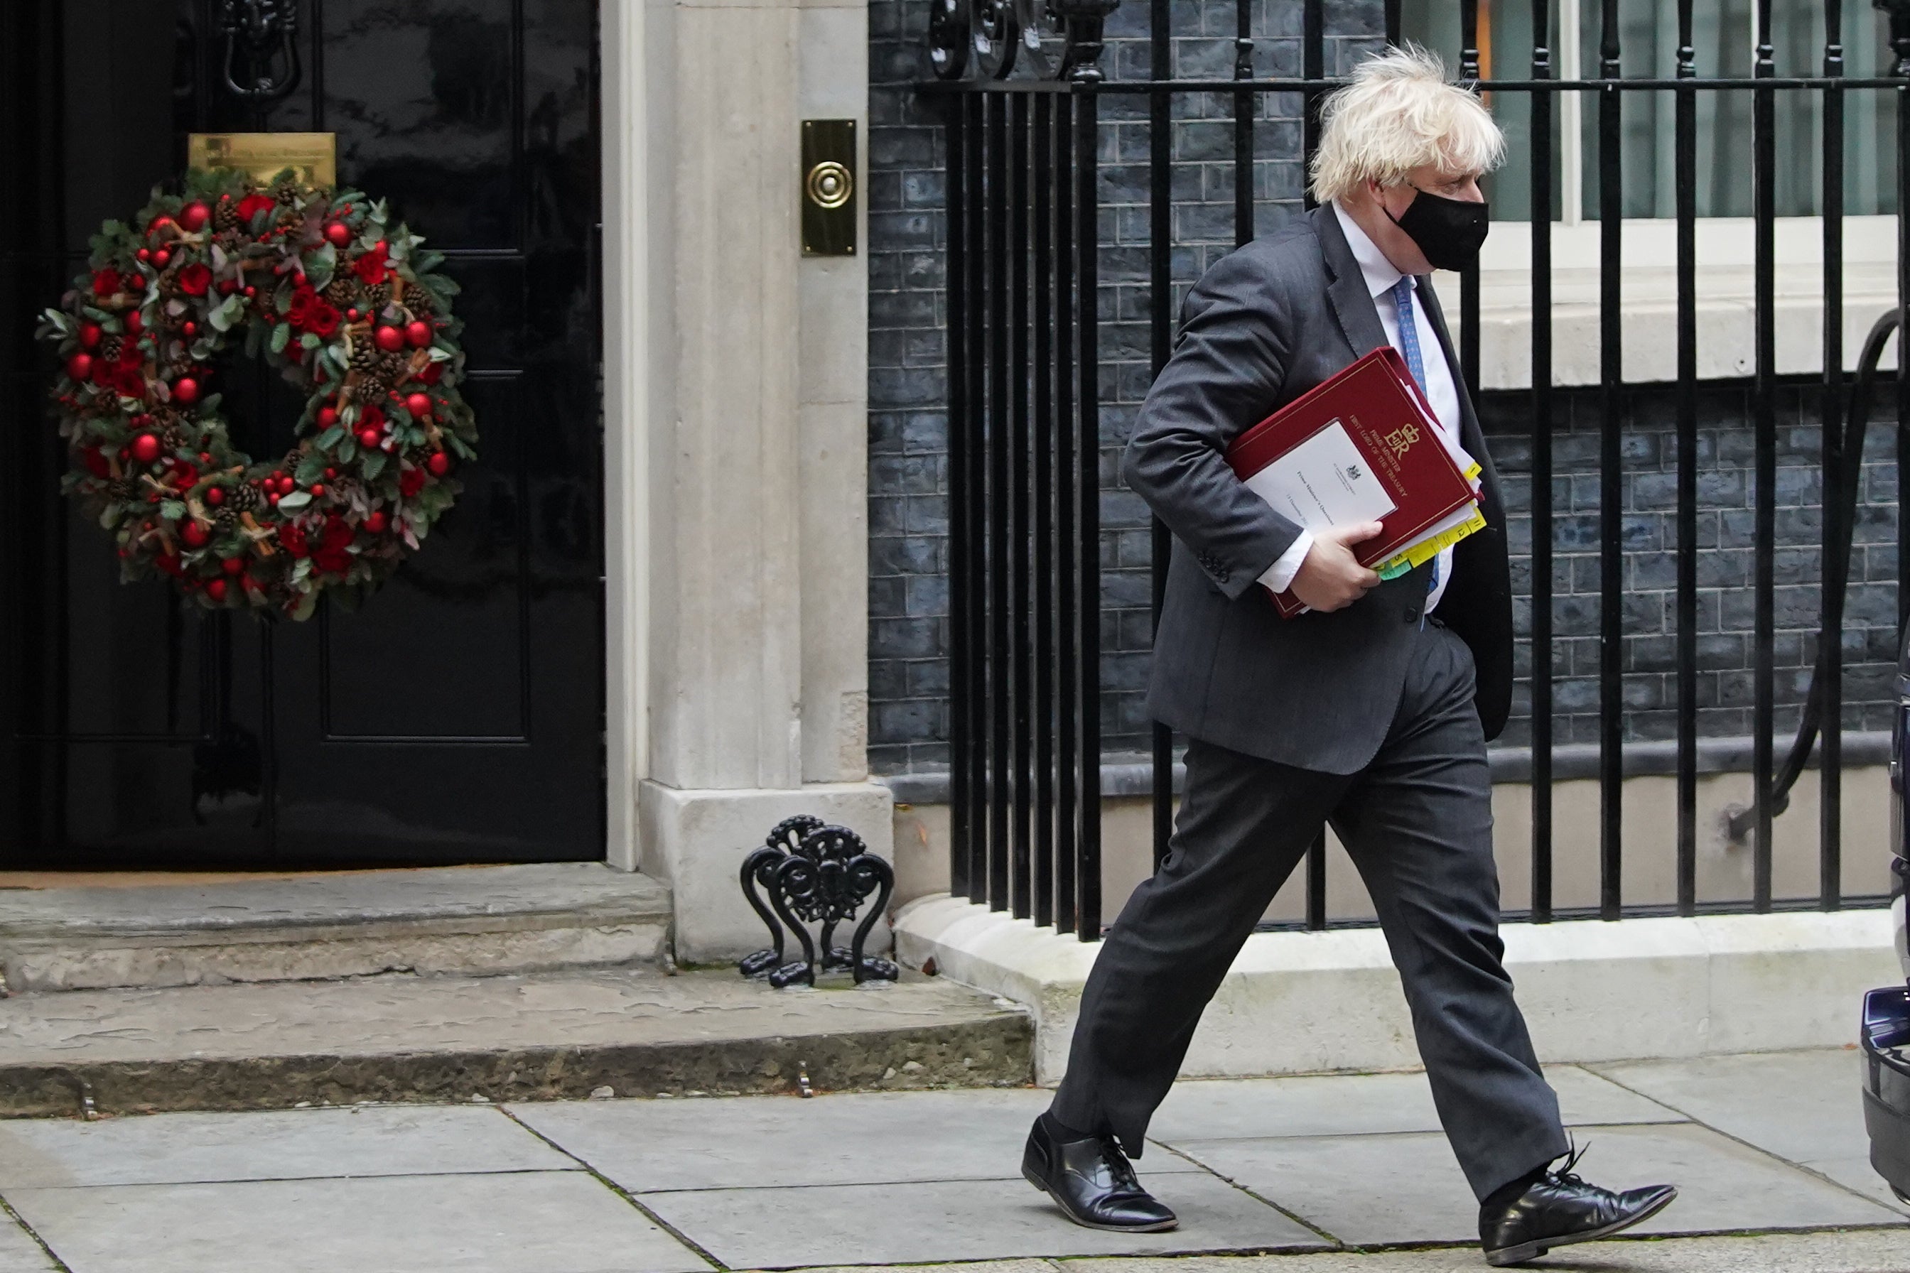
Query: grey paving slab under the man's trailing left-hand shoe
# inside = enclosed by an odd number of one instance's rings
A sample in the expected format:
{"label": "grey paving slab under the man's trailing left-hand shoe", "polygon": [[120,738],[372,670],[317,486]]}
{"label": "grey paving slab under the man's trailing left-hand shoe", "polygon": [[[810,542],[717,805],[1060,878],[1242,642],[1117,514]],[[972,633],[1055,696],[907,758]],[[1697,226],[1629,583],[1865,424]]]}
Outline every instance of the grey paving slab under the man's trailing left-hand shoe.
{"label": "grey paving slab under the man's trailing left-hand shoe", "polygon": [[1171,1206],[1180,1227],[1169,1233],[1083,1229],[1024,1179],[703,1189],[646,1193],[638,1200],[730,1267],[1326,1244],[1318,1233],[1205,1172],[1175,1178]]}

